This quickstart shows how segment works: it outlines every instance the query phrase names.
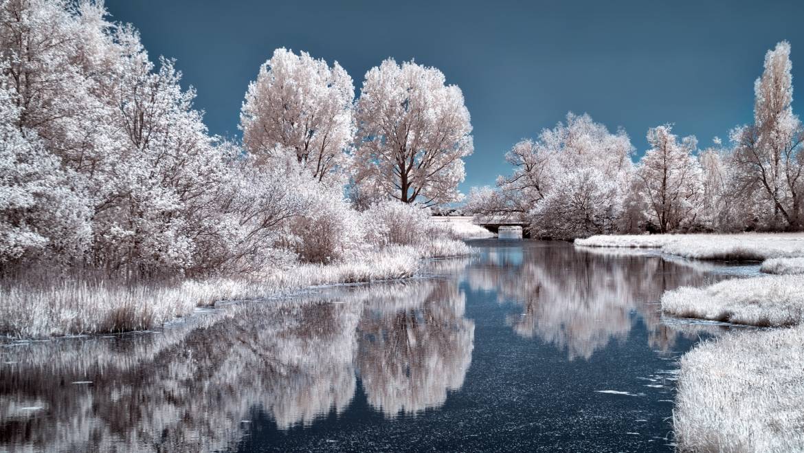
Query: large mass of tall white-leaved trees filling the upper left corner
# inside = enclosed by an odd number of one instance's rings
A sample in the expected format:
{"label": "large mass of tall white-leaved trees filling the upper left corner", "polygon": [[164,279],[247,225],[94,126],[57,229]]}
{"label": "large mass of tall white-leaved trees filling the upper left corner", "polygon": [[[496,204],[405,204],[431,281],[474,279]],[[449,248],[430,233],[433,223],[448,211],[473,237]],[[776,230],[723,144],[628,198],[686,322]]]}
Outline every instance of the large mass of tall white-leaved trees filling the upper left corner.
{"label": "large mass of tall white-leaved trees filling the upper left corner", "polygon": [[[6,146],[7,180],[38,194],[15,201],[6,219],[19,226],[23,213],[31,219],[48,210],[62,222],[91,219],[86,228],[37,231],[47,252],[110,273],[183,272],[198,266],[211,235],[229,234],[215,199],[228,183],[224,153],[173,62],[155,70],[137,31],[105,16],[92,2],[0,4],[2,83],[11,105],[3,134],[6,145],[19,142]],[[69,200],[70,212],[49,204],[55,198]],[[25,224],[34,231],[31,220]],[[92,253],[65,246],[77,245],[78,233]]]}

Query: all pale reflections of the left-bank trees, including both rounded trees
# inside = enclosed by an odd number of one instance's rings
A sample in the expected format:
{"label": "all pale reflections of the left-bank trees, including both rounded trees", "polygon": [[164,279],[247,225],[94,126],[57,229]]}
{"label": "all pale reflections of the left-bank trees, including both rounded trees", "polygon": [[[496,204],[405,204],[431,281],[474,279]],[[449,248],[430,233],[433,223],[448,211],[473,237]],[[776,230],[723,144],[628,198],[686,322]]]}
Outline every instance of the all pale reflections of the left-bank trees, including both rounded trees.
{"label": "all pale reflections of the left-bank trees, including both rounded trees", "polygon": [[455,282],[419,280],[232,305],[164,332],[6,344],[0,447],[221,450],[252,410],[281,430],[342,413],[355,365],[384,414],[440,406],[471,361],[464,304]]}

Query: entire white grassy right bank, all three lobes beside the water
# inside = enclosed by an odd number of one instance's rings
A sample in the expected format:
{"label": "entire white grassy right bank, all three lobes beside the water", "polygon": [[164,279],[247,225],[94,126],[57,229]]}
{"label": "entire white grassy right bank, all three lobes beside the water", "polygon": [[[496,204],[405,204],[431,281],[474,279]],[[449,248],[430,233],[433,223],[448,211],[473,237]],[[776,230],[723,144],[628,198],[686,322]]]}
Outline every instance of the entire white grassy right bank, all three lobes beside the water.
{"label": "entire white grassy right bank, all three lobes beside the water", "polygon": [[595,236],[579,247],[659,249],[693,260],[761,261],[764,275],[662,294],[662,313],[757,327],[681,360],[673,411],[682,451],[794,451],[804,444],[804,235]]}

